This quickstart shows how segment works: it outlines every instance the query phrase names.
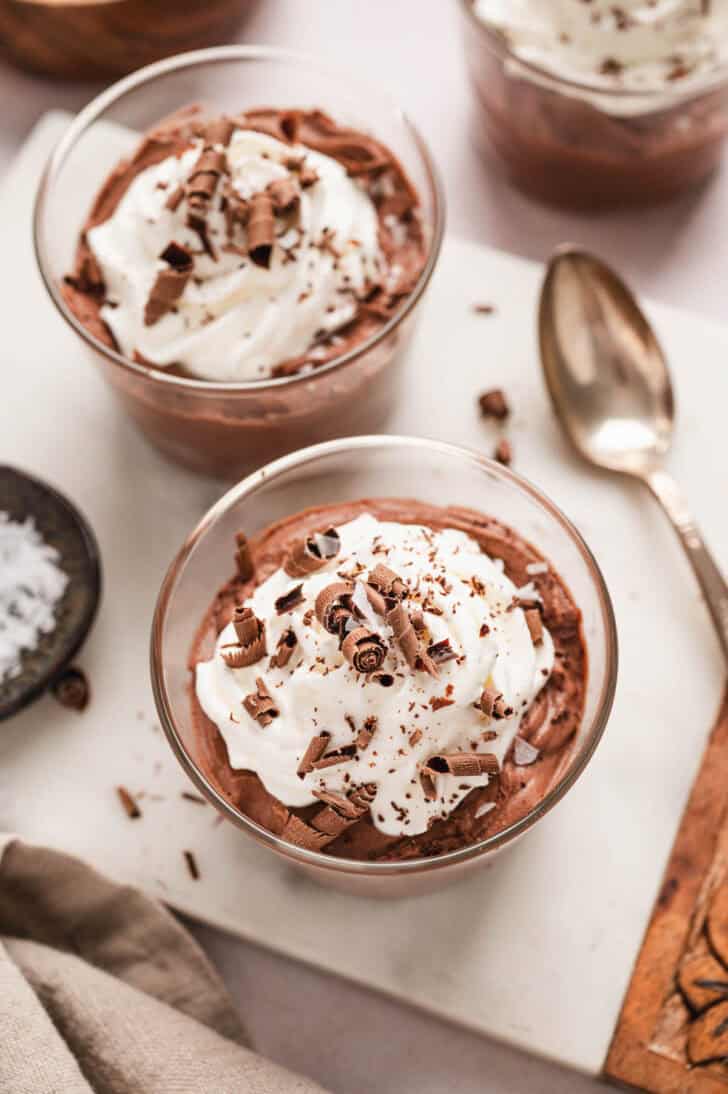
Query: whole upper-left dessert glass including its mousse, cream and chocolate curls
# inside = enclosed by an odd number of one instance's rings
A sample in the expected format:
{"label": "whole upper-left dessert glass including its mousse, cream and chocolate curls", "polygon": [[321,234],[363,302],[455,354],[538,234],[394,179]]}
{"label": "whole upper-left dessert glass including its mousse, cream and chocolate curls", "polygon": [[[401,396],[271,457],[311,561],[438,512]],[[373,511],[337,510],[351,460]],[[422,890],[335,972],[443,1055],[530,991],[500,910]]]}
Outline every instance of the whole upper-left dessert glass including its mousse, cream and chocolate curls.
{"label": "whole upper-left dessert glass including its mousse, cream and chocolate curls", "polygon": [[[160,119],[189,104],[198,104],[196,114],[183,116],[174,128],[169,121],[160,127]],[[277,108],[277,143],[270,137],[274,121],[259,116],[255,125],[243,127],[255,130],[255,149],[238,143],[239,131],[231,138],[218,128],[208,137],[210,121],[256,108],[262,115],[261,107]],[[316,108],[334,119],[338,128],[333,136],[328,120],[313,113]],[[289,129],[289,115],[303,120]],[[128,185],[118,203],[113,186],[106,189],[111,216],[106,212],[89,232],[95,243],[90,261],[79,269],[80,233],[100,188],[119,161],[134,156],[141,136],[155,129],[162,132],[164,149],[171,150],[163,149],[163,162],[158,162],[152,146],[149,170]],[[302,150],[286,144],[299,130]],[[332,149],[328,156],[325,151],[317,160],[313,153],[302,154],[313,130],[316,148]],[[374,139],[367,149],[369,136]],[[185,152],[184,140],[198,144]],[[197,156],[206,142],[213,150],[201,164]],[[231,161],[233,153],[238,159]],[[233,174],[239,166],[241,174]],[[401,179],[398,190],[393,178]],[[288,191],[269,189],[273,182],[292,186],[292,205]],[[253,206],[263,191],[276,200],[275,240],[267,252],[265,241],[253,248],[247,234],[252,238],[253,221],[256,230],[261,226]],[[408,197],[408,208],[403,202],[398,211],[395,203],[403,197]],[[200,201],[206,206],[201,235],[193,228],[199,226]],[[345,254],[342,238],[326,223],[335,221],[337,210]],[[205,216],[217,234],[206,230]],[[312,219],[304,223],[304,217]],[[309,223],[316,225],[315,236],[299,236]],[[125,408],[166,455],[226,478],[298,445],[382,424],[397,397],[397,361],[437,261],[442,230],[443,197],[436,170],[420,136],[396,105],[377,90],[353,83],[348,73],[267,47],[183,55],[104,92],[72,123],[54,153],[35,211],[36,254],[46,288],[91,348]],[[398,291],[404,265],[397,261],[398,252],[390,257],[380,246],[386,233],[395,241],[394,251],[397,238],[406,242],[419,233],[420,260],[406,290]],[[119,255],[134,259],[128,269],[113,269]],[[112,264],[101,263],[101,277],[100,256]],[[313,278],[305,276],[310,259],[319,263],[320,282],[314,267]],[[174,299],[163,300],[169,288],[164,284],[152,302],[154,277],[160,275],[170,281],[180,276],[183,295],[174,296],[173,289]],[[239,284],[240,277],[250,280]],[[342,316],[346,319],[342,300],[349,281],[356,290],[347,298],[354,306],[349,327],[356,327],[355,336],[336,326]],[[218,292],[216,286],[222,282]],[[373,299],[367,295],[370,286],[381,289]],[[278,313],[277,292],[282,302]],[[231,340],[230,329],[236,330],[242,314],[240,301],[243,309],[251,301],[259,303],[265,314],[254,315]],[[151,314],[151,303],[161,303],[161,318]],[[321,305],[321,315],[302,323],[314,305]],[[259,360],[247,368],[250,347],[265,351],[286,337],[285,351],[273,354],[265,368]],[[180,346],[189,360],[173,352]],[[290,368],[297,359],[298,366]]]}

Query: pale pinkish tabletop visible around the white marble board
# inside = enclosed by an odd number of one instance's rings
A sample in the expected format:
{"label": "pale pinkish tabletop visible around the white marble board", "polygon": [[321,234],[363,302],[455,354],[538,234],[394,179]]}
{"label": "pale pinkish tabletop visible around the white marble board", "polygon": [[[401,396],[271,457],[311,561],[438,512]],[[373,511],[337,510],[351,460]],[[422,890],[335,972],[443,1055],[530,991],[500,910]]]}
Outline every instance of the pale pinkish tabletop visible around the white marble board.
{"label": "pale pinkish tabletop visible around the white marble board", "polygon": [[[721,318],[728,176],[651,212],[583,218],[512,193],[479,159],[470,130],[455,0],[259,0],[240,40],[294,47],[380,80],[420,126],[439,161],[449,230],[532,258],[570,240],[615,263],[642,292]],[[36,118],[76,110],[94,85],[56,84],[0,62],[0,170]],[[498,302],[498,287],[474,294]],[[587,1094],[598,1084],[453,1029],[360,988],[217,931],[196,928],[257,1047],[333,1091],[381,1094]],[[423,940],[425,941],[425,940]],[[585,984],[585,990],[594,990]],[[497,1000],[494,1000],[497,1005]]]}

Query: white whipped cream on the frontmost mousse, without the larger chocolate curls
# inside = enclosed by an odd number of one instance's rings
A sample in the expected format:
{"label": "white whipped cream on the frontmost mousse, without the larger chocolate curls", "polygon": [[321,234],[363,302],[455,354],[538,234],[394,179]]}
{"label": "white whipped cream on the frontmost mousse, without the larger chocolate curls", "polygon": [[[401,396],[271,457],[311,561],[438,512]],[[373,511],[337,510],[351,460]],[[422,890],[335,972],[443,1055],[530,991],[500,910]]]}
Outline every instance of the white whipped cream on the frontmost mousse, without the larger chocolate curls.
{"label": "white whipped cream on the frontmost mousse, without the larger chocolate curls", "polygon": [[[490,753],[502,764],[523,715],[551,675],[553,642],[544,629],[534,643],[524,612],[516,605],[519,595],[533,595],[532,587],[517,590],[501,561],[485,555],[465,533],[378,521],[368,513],[337,531],[340,549],[320,570],[291,578],[279,569],[245,602],[265,624],[268,656],[246,667],[229,667],[223,648],[236,642],[230,624],[218,636],[213,656],[196,666],[197,698],[226,742],[230,766],[255,771],[284,804],[311,805],[317,800],[314,791],[346,795],[371,783],[375,827],[391,836],[414,836],[489,780],[487,773],[438,773],[437,799],[430,801],[420,780],[428,759]],[[407,665],[391,627],[367,605],[362,581],[378,563],[405,582],[409,612],[424,608],[425,645],[449,640],[457,656],[438,664],[439,678]],[[391,678],[391,686],[382,686],[377,674],[357,673],[338,638],[315,616],[319,593],[346,579],[354,581],[363,625],[386,643],[380,672]],[[297,585],[298,603],[279,614],[276,601]],[[290,660],[282,668],[270,667],[269,655],[289,629],[297,638]],[[243,706],[256,691],[256,678],[279,711],[266,726]],[[488,719],[477,707],[486,687],[502,695],[506,717]],[[335,766],[298,773],[312,737],[326,732],[328,750],[350,748],[372,717],[375,729],[365,749],[354,749]]]}

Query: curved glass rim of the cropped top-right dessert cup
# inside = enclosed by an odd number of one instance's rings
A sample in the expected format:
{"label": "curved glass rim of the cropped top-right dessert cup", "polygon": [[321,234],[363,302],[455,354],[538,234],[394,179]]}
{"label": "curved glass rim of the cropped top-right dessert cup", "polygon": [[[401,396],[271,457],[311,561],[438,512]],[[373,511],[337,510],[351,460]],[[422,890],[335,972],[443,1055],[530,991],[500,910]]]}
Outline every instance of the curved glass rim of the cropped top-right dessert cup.
{"label": "curved glass rim of the cropped top-right dessert cup", "polygon": [[647,113],[698,98],[707,92],[717,90],[728,80],[728,62],[724,61],[721,65],[716,66],[712,72],[707,72],[702,80],[691,81],[690,85],[685,88],[680,86],[679,80],[674,82],[674,86],[660,89],[602,88],[599,84],[588,83],[586,80],[576,80],[570,77],[561,75],[553,69],[536,65],[535,61],[523,60],[522,57],[519,57],[510,48],[502,33],[499,33],[494,26],[488,26],[476,14],[473,8],[473,0],[458,0],[458,4],[471,26],[475,28],[477,34],[483,36],[483,40],[492,53],[496,54],[501,60],[515,61],[519,68],[524,72],[531,73],[540,82],[552,84],[557,89],[564,88],[567,91],[578,92],[581,95],[599,96],[604,102],[612,100],[616,103],[633,100],[643,105]]}

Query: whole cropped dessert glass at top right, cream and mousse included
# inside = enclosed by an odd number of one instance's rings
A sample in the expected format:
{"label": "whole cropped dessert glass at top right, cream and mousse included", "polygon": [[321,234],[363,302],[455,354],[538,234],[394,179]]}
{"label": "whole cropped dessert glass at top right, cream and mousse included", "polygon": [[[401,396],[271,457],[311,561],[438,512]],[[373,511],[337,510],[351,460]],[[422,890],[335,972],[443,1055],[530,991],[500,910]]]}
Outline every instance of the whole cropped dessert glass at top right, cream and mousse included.
{"label": "whole cropped dessert glass at top right, cream and mousse included", "polygon": [[578,209],[666,200],[728,132],[728,4],[458,0],[476,125],[512,182]]}

